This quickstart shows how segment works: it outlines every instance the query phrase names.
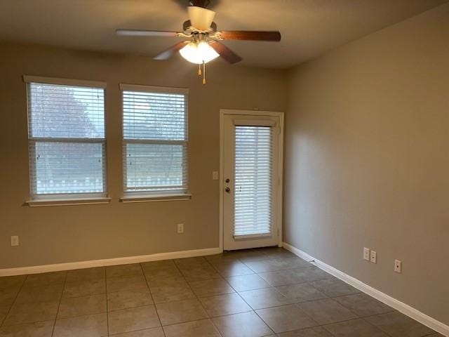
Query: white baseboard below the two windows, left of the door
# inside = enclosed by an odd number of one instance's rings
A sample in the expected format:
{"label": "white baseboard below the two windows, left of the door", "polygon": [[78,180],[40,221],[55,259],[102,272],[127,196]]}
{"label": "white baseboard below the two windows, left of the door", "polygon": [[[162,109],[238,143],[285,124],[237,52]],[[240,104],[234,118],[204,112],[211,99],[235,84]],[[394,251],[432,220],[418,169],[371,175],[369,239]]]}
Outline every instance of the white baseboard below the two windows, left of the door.
{"label": "white baseboard below the two windows, left of the door", "polygon": [[107,265],[128,265],[157,260],[170,260],[172,258],[192,258],[221,253],[220,248],[195,249],[193,251],[170,251],[141,256],[126,256],[125,258],[105,258],[102,260],[79,261],[69,263],[56,263],[54,265],[32,265],[30,267],[17,267],[0,269],[0,277],[13,275],[38,274],[41,272],[59,272],[61,270],[74,270],[91,267],[104,267]]}

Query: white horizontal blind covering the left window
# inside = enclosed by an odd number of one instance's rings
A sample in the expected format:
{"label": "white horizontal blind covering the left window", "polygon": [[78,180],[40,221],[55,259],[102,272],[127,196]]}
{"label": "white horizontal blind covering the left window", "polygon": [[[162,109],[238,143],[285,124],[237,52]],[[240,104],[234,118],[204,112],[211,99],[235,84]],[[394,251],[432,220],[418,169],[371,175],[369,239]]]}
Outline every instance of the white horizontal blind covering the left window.
{"label": "white horizontal blind covering the left window", "polygon": [[32,199],[106,194],[103,88],[27,83]]}

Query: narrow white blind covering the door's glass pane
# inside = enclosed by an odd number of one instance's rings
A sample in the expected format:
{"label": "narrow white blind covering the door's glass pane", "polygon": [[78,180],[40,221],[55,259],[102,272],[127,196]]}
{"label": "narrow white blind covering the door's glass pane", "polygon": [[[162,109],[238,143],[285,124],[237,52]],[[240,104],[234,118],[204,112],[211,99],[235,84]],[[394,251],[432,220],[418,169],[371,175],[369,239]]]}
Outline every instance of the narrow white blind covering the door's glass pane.
{"label": "narrow white blind covering the door's glass pane", "polygon": [[234,237],[272,228],[273,128],[235,126]]}

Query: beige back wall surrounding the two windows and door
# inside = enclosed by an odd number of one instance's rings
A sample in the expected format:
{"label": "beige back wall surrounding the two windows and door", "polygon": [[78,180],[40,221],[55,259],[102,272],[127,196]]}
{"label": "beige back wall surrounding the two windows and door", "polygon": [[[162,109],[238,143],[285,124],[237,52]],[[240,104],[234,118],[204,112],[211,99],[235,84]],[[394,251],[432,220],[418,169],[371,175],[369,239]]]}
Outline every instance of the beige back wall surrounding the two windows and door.
{"label": "beige back wall surrounding the two windows and door", "polygon": [[[143,41],[143,40],[142,40]],[[0,44],[0,269],[79,260],[138,256],[218,246],[220,108],[286,107],[286,73],[184,60]],[[29,197],[27,102],[22,75],[107,81],[108,205],[22,206]],[[119,83],[189,88],[190,201],[119,202],[122,194]],[[176,234],[176,224],[185,233]],[[10,236],[20,246],[11,247]]]}

